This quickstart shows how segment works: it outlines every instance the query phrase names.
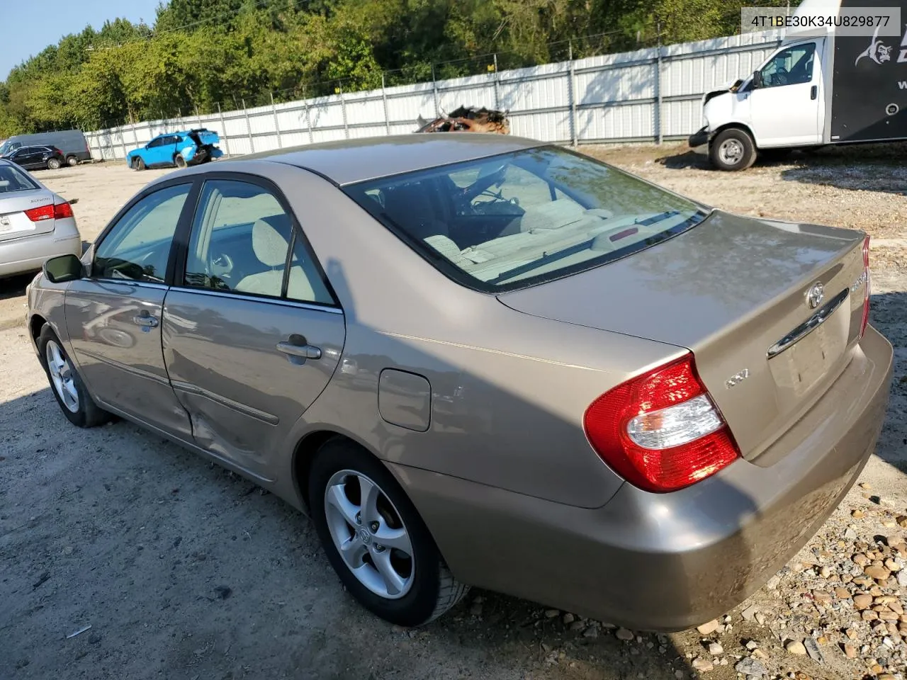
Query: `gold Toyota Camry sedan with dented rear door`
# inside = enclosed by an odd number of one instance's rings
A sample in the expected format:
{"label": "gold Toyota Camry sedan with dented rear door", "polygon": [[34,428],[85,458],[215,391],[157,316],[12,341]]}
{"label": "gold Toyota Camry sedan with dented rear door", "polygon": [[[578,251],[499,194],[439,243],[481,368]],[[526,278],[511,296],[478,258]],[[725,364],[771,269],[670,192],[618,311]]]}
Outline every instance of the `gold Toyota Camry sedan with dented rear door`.
{"label": "gold Toyota Camry sedan with dented rear door", "polygon": [[677,630],[759,588],[872,454],[868,257],[550,144],[406,135],[155,180],[45,264],[27,324],[69,421],[306,511],[380,617],[476,586]]}

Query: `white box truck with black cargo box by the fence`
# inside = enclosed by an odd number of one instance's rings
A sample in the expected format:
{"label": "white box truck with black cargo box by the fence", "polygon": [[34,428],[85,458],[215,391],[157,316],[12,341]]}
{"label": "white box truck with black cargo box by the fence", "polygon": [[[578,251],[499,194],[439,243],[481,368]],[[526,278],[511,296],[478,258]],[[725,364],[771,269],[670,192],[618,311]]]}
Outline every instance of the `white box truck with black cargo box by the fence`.
{"label": "white box truck with black cargo box by the fence", "polygon": [[[705,126],[689,146],[721,170],[746,170],[758,154],[907,139],[907,0],[840,0],[844,8],[901,7],[898,36],[841,34],[834,24],[788,29],[755,73],[702,99]],[[796,15],[829,8],[804,0]],[[872,30],[872,29],[870,29]],[[868,31],[866,31],[868,33]]]}

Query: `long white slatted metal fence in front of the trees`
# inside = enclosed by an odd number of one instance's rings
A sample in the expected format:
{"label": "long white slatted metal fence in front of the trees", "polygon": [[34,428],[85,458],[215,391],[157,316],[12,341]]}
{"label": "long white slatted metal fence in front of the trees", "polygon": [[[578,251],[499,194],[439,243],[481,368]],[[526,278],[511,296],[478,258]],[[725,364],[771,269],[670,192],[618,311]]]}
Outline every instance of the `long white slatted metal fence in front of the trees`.
{"label": "long white slatted metal fence in front of the trees", "polygon": [[752,73],[777,32],[605,54],[465,78],[339,93],[86,133],[95,159],[118,160],[166,131],[209,128],[236,156],[317,141],[412,132],[461,104],[510,112],[511,131],[566,144],[686,139],[708,90]]}

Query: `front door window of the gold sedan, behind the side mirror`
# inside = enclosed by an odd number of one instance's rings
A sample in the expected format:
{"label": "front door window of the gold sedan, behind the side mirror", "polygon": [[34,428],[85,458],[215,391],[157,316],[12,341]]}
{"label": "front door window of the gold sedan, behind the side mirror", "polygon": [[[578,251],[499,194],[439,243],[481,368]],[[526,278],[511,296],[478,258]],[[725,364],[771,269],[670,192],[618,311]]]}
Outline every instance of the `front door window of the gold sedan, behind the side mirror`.
{"label": "front door window of the gold sedan, behind the side mirror", "polygon": [[98,246],[93,276],[163,283],[190,187],[160,189],[132,206]]}

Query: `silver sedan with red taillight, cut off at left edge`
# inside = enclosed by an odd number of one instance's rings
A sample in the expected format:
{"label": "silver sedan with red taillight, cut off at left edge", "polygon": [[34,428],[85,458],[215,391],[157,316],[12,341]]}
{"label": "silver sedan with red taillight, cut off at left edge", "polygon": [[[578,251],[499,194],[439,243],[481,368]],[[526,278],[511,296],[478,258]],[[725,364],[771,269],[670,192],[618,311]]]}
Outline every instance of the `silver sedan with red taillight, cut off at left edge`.
{"label": "silver sedan with red taillight, cut off at left edge", "polygon": [[27,171],[0,159],[0,278],[58,255],[82,256],[73,208]]}

